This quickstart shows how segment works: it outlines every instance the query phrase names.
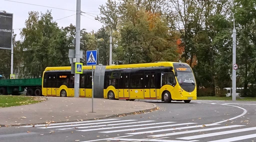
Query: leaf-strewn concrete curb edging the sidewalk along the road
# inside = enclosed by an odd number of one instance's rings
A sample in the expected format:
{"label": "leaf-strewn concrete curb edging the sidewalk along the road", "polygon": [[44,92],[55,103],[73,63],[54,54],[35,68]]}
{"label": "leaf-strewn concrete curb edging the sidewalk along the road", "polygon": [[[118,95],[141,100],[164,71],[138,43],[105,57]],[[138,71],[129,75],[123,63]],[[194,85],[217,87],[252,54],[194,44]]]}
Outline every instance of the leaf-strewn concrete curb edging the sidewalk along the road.
{"label": "leaf-strewn concrete curb edging the sidewalk along the road", "polygon": [[[145,102],[148,103],[148,102]],[[93,119],[82,119],[84,120],[94,120],[94,119],[105,119],[105,118],[112,118],[112,117],[119,117],[119,116],[127,116],[127,115],[134,115],[134,113],[144,113],[144,112],[151,112],[156,110],[156,105],[153,103],[148,103],[153,105],[152,108],[144,109],[144,110],[137,110],[137,111],[130,111],[130,112],[125,112],[125,113],[119,113],[119,114],[113,114],[105,117],[99,117],[99,118],[93,118]],[[69,121],[54,121],[54,123],[60,123],[60,122],[72,122],[72,121],[77,121],[77,120],[69,120]],[[41,123],[28,123],[28,124],[14,124],[14,125],[8,125],[8,126],[21,126],[21,125],[35,125],[35,124],[46,124],[45,122]],[[0,124],[1,127],[5,127],[6,125]]]}

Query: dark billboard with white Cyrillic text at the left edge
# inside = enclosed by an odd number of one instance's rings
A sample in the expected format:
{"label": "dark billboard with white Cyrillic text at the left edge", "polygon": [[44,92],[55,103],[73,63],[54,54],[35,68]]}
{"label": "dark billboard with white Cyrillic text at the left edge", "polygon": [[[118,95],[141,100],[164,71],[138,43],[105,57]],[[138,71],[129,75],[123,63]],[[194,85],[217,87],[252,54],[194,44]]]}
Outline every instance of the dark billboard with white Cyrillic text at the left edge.
{"label": "dark billboard with white Cyrillic text at the left edge", "polygon": [[0,12],[0,48],[11,49],[13,14]]}

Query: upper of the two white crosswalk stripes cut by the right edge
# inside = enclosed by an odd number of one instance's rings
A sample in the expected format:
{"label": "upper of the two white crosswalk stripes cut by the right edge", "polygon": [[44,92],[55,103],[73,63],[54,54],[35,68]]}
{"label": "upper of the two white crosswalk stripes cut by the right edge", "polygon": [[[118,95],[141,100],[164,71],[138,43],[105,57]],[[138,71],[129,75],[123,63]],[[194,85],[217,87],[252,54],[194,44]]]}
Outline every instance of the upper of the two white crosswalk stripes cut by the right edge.
{"label": "upper of the two white crosswalk stripes cut by the right edge", "polygon": [[225,134],[238,133],[238,132],[245,132],[245,131],[251,131],[251,130],[256,130],[256,127],[244,128],[244,129],[237,129],[237,130],[230,130],[230,131],[222,131],[222,132],[209,133],[209,134],[201,134],[201,135],[188,136],[188,137],[181,137],[181,138],[177,138],[177,139],[186,139],[186,140],[190,140],[190,139],[196,139],[196,138],[204,138],[204,137],[225,135]]}

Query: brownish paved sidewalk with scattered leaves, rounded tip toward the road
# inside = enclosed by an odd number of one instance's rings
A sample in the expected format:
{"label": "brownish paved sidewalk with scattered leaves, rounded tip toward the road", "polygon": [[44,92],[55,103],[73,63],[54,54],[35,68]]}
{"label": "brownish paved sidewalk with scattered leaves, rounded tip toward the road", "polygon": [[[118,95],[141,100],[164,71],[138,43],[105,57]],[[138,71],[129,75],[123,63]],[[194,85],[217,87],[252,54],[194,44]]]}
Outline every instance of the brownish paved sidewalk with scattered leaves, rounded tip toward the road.
{"label": "brownish paved sidewalk with scattered leaves, rounded tip toward the road", "polygon": [[125,113],[150,111],[156,107],[146,102],[94,98],[95,113],[92,113],[91,98],[47,98],[47,101],[38,104],[0,108],[0,126],[108,118]]}

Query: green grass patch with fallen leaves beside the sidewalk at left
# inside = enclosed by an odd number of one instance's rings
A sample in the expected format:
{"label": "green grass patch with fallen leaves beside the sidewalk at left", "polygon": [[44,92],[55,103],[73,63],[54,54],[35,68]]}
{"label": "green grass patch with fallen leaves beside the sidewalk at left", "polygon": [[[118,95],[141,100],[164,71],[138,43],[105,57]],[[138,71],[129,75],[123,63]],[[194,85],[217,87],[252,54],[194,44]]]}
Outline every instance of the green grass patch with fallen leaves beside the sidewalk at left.
{"label": "green grass patch with fallen leaves beside the sidewalk at left", "polygon": [[0,108],[34,104],[44,100],[45,98],[40,97],[0,95]]}

